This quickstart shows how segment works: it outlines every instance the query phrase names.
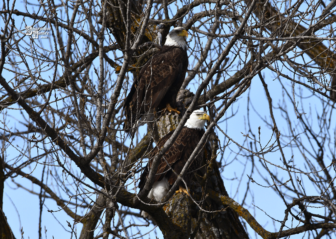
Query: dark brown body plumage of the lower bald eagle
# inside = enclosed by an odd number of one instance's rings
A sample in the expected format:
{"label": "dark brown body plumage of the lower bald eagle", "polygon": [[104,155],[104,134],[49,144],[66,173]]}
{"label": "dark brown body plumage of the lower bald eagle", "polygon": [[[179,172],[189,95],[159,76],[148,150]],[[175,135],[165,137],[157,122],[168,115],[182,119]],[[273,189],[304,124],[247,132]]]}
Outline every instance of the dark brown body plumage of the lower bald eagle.
{"label": "dark brown body plumage of the lower bald eagle", "polygon": [[[153,164],[153,158],[155,157],[155,155],[158,154],[166,141],[170,139],[173,132],[174,131],[171,131],[166,136],[164,136],[159,141],[158,145],[154,148],[153,152],[150,154],[150,160],[140,176],[140,182],[138,185],[140,191],[146,183],[149,171]],[[169,184],[174,184],[177,179],[177,175],[181,173],[185,163],[189,159],[190,155],[193,153],[197,144],[200,142],[204,132],[204,129],[200,130],[183,127],[173,145],[164,153],[163,157],[160,159],[161,161],[156,171],[156,176],[153,183],[161,181],[163,177],[167,177]],[[165,158],[167,162],[163,158]],[[199,155],[190,164],[186,174],[183,176],[187,184],[190,178],[190,173],[201,166],[202,159],[203,152],[200,152]],[[171,168],[175,171],[175,173],[171,170]]]}

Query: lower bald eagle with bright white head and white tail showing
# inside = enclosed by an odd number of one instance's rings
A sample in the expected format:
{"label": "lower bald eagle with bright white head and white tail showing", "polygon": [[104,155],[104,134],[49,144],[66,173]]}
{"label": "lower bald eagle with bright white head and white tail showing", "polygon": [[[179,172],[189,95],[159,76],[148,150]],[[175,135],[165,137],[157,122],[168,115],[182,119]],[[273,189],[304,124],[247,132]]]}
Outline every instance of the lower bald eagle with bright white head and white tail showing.
{"label": "lower bald eagle with bright white head and white tail showing", "polygon": [[[177,175],[180,174],[188,158],[200,142],[205,132],[204,126],[206,121],[210,121],[210,117],[205,111],[198,109],[190,115],[173,145],[163,155],[168,164],[163,158],[161,158],[161,162],[154,178],[153,187],[148,193],[149,198],[154,198],[155,201],[160,202],[168,193],[170,186],[174,184],[177,179]],[[171,131],[164,136],[151,153],[149,162],[140,176],[140,182],[138,185],[140,191],[146,183],[155,155],[158,154],[166,141],[170,139],[173,132],[174,131]],[[203,158],[203,153],[201,153],[201,157]],[[184,180],[187,184],[189,181],[188,179],[190,178],[190,173],[201,166],[201,161],[197,160],[198,158],[190,164],[187,173],[184,175]],[[171,169],[173,169],[175,173]],[[179,191],[184,191],[181,185]],[[148,213],[142,212],[141,215],[147,217]]]}

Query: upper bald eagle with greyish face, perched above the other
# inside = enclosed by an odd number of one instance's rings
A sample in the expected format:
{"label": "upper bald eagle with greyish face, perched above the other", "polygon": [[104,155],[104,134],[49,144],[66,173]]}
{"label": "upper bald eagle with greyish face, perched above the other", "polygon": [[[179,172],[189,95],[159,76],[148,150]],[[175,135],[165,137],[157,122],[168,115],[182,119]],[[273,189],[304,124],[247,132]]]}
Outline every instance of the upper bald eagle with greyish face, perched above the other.
{"label": "upper bald eagle with greyish face, perched above the other", "polygon": [[186,36],[188,33],[183,27],[175,27],[168,33],[162,49],[145,63],[134,79],[124,105],[126,132],[142,125],[154,110],[177,111],[173,109],[176,95],[188,68]]}

